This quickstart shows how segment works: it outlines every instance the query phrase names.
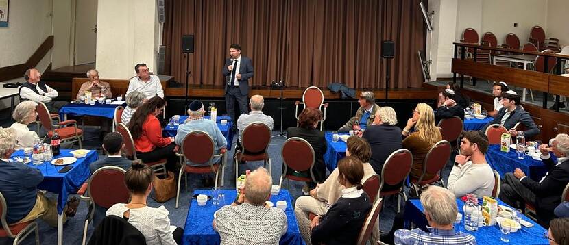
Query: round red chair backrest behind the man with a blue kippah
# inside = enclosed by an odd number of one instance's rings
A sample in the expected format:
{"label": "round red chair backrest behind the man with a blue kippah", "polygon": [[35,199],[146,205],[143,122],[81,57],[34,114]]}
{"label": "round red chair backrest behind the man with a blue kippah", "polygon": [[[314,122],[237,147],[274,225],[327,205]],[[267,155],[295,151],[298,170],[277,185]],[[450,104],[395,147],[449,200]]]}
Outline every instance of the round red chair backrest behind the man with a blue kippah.
{"label": "round red chair backrest behind the man with a blue kippah", "polygon": [[199,130],[191,131],[184,137],[182,153],[188,161],[204,164],[209,162],[215,154],[215,146],[208,133]]}

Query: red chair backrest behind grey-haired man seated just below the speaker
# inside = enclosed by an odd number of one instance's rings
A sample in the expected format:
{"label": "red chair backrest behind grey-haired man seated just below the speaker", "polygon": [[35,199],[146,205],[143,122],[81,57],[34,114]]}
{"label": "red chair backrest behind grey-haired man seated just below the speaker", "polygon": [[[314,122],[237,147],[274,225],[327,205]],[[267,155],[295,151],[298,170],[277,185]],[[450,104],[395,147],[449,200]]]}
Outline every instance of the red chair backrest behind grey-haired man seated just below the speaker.
{"label": "red chair backrest behind grey-haired man seated just below the speaker", "polygon": [[243,149],[250,153],[260,153],[267,151],[271,143],[271,129],[261,122],[254,122],[243,129],[241,142]]}

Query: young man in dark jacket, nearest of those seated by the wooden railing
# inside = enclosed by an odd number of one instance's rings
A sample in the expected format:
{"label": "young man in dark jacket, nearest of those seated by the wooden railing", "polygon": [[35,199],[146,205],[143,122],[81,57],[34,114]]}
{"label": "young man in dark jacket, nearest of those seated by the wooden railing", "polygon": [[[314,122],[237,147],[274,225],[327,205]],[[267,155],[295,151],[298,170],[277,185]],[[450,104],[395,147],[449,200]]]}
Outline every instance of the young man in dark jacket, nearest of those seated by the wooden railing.
{"label": "young man in dark jacket, nearest of those seated by the wooden railing", "polygon": [[[504,107],[498,111],[498,114],[494,117],[492,122],[484,126],[482,129],[483,132],[489,125],[499,124],[509,129],[509,133],[513,137],[518,136],[518,133],[520,136],[525,136],[526,138],[540,134],[540,128],[533,123],[533,119],[531,119],[529,113],[524,111],[524,108],[521,107],[520,96],[518,96],[516,92],[512,90],[505,92],[503,94],[502,103]],[[514,128],[518,122],[526,127],[526,131],[517,131]]]}

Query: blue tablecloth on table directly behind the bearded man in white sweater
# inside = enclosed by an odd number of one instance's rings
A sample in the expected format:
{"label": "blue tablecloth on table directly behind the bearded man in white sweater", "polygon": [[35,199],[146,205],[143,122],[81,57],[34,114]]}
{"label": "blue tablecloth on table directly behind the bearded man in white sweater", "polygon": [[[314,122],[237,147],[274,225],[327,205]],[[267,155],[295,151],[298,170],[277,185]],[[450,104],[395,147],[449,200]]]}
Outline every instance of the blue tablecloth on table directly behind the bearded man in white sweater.
{"label": "blue tablecloth on table directly behind the bearded man in white sweater", "polygon": [[500,151],[499,144],[488,146],[486,161],[494,170],[500,173],[501,177],[504,177],[507,172],[513,172],[516,168],[520,168],[534,181],[540,181],[547,172],[547,168],[542,161],[535,160],[529,155],[524,155],[523,160],[518,159],[516,150],[510,149],[509,153],[505,153]]}

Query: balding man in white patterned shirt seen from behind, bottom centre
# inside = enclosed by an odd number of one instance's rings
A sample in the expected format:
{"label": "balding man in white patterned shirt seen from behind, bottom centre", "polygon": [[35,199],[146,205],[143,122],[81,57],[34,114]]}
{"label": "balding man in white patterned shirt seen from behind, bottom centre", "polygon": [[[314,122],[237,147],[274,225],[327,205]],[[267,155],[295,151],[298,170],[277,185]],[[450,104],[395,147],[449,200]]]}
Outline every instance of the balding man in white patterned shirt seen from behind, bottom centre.
{"label": "balding man in white patterned shirt seen from behind, bottom centre", "polygon": [[287,232],[287,215],[279,208],[266,207],[273,181],[265,168],[247,176],[241,195],[213,215],[213,229],[221,244],[279,244]]}

